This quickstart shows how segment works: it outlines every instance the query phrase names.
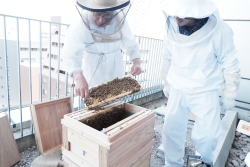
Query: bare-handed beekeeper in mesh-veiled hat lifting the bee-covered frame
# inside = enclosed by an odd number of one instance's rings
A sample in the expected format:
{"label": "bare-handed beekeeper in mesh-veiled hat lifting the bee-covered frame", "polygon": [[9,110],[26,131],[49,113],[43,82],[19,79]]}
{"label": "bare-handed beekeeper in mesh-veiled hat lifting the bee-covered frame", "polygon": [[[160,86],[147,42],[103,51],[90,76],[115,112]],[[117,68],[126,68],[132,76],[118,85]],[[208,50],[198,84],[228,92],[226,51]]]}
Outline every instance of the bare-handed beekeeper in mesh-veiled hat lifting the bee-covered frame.
{"label": "bare-handed beekeeper in mesh-veiled hat lifting the bee-covered frame", "polygon": [[82,98],[89,88],[124,76],[122,51],[133,61],[131,74],[141,73],[139,47],[125,21],[130,6],[129,0],[76,1],[80,17],[67,30],[63,61]]}

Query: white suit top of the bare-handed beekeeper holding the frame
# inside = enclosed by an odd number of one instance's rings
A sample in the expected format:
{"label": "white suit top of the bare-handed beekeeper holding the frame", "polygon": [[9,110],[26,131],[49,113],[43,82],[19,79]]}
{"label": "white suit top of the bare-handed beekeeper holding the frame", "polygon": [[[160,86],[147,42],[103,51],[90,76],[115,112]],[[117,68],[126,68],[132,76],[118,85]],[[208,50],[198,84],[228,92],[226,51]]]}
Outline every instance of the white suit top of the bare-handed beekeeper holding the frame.
{"label": "white suit top of the bare-handed beekeeper holding the frame", "polygon": [[[91,17],[89,16],[89,19]],[[115,24],[99,27],[90,22],[90,28],[99,32],[112,32]],[[116,42],[98,43],[92,38],[82,20],[72,24],[67,30],[63,49],[63,61],[70,76],[81,71],[88,84],[93,76],[89,88],[101,83],[121,77],[125,74],[122,51],[130,56],[130,60],[140,58],[139,46],[134,35],[125,21],[121,29],[122,38]],[[96,67],[99,65],[98,69]],[[95,72],[96,71],[96,72]]]}

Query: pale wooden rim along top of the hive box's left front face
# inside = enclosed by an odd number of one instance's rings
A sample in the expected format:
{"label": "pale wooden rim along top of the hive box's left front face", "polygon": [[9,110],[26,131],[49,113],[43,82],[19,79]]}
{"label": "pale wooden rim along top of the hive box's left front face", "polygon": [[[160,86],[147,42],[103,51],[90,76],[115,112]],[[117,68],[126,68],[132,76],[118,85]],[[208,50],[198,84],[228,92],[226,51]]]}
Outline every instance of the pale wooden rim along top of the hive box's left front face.
{"label": "pale wooden rim along top of the hive box's left front face", "polygon": [[[81,126],[78,126],[77,124],[75,124],[74,121],[73,121],[73,124],[69,120],[65,121],[65,119],[62,119],[61,122],[66,127],[70,128],[70,129],[74,129],[75,132],[81,134],[83,137],[86,137],[87,139],[92,140],[93,142],[98,143],[99,145],[102,145],[103,147],[105,147],[107,149],[110,149],[111,143],[107,142],[107,140],[108,140],[107,136],[105,136],[104,134],[100,133],[99,131],[97,131],[99,133],[97,133],[97,132],[92,133],[92,131],[86,130],[85,127],[83,128]],[[80,124],[82,124],[82,123],[80,123]],[[99,134],[101,134],[101,135],[99,135]],[[102,135],[105,136],[106,139]]]}

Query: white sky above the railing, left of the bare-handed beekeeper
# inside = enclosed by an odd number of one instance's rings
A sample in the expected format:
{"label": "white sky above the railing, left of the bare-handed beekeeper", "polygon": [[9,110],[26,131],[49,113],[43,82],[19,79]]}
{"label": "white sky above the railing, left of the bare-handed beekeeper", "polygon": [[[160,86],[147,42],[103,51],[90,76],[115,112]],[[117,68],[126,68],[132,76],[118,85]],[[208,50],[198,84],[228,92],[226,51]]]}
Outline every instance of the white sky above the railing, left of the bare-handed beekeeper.
{"label": "white sky above the railing, left of the bare-handed beekeeper", "polygon": [[50,16],[74,18],[75,0],[0,0],[0,14],[50,20]]}

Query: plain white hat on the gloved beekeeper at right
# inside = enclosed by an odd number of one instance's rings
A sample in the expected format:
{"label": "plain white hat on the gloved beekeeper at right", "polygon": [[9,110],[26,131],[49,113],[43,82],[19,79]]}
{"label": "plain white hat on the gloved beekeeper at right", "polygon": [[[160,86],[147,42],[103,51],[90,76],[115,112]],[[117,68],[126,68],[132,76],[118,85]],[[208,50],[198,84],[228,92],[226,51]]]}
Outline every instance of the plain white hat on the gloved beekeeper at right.
{"label": "plain white hat on the gloved beekeeper at right", "polygon": [[160,7],[169,16],[205,18],[217,9],[211,0],[160,0]]}

